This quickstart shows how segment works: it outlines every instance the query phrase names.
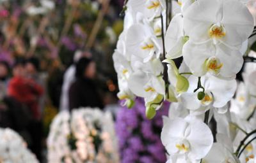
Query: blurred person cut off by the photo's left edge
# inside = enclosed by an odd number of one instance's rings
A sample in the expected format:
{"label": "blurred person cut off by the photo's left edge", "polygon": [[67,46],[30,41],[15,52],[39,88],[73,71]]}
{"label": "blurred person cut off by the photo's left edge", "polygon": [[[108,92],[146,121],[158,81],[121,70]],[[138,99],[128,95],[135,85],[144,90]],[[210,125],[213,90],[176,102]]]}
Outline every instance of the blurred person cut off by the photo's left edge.
{"label": "blurred person cut off by the photo's left edge", "polygon": [[0,98],[6,96],[10,67],[8,62],[0,61]]}

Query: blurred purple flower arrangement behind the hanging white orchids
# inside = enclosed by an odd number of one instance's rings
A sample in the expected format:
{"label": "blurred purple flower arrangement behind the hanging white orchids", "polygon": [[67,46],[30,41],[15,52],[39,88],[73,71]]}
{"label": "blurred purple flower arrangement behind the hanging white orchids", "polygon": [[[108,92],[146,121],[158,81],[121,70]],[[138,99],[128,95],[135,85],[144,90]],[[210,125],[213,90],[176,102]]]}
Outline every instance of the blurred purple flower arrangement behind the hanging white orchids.
{"label": "blurred purple flower arrangement behind the hanging white orchids", "polygon": [[116,115],[116,134],[122,163],[165,162],[166,155],[161,143],[162,116],[168,114],[169,103],[157,112],[154,120],[145,117],[143,99],[136,99],[136,105],[127,111],[120,108]]}

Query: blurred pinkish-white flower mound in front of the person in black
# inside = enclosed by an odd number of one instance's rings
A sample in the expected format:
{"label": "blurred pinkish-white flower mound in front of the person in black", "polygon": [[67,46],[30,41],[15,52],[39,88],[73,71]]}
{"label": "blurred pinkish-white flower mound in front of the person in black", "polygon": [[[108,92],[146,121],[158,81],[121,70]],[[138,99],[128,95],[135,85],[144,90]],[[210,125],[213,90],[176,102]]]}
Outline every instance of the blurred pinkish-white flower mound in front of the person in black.
{"label": "blurred pinkish-white flower mound in front of the person in black", "polygon": [[49,162],[118,162],[111,113],[81,108],[54,118],[47,139]]}

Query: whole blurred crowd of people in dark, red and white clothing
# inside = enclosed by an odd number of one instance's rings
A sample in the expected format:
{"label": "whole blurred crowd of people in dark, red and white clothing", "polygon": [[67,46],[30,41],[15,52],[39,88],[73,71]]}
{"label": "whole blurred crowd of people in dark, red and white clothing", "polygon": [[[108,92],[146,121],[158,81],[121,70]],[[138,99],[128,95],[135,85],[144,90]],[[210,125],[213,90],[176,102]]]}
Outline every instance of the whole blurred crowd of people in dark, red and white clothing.
{"label": "whole blurred crowd of people in dark, red and white clothing", "polygon": [[42,160],[45,145],[47,106],[58,112],[87,106],[103,109],[115,103],[115,97],[99,87],[102,84],[91,53],[77,51],[65,71],[45,73],[41,64],[36,57],[19,57],[12,65],[0,61],[0,127],[19,132],[38,160]]}

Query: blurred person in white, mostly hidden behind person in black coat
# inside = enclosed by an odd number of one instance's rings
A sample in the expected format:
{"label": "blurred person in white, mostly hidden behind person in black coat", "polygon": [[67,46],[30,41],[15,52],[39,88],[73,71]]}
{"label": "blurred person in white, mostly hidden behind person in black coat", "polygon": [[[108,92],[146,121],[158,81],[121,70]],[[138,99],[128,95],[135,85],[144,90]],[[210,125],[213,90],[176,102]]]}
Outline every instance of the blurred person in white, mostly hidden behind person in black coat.
{"label": "blurred person in white, mostly hidden behind person in black coat", "polygon": [[82,52],[77,50],[74,54],[74,64],[68,67],[67,71],[64,74],[63,85],[61,88],[61,98],[60,98],[60,111],[69,110],[69,99],[68,99],[68,90],[70,85],[76,80],[76,63],[82,57],[92,57],[92,54],[89,52]]}

